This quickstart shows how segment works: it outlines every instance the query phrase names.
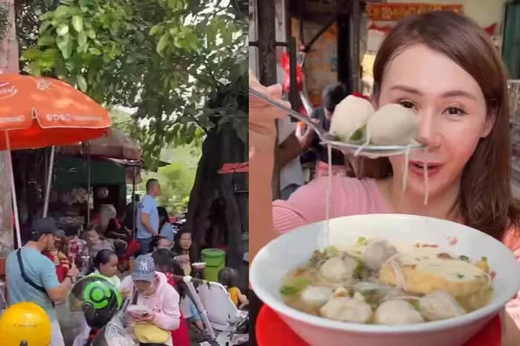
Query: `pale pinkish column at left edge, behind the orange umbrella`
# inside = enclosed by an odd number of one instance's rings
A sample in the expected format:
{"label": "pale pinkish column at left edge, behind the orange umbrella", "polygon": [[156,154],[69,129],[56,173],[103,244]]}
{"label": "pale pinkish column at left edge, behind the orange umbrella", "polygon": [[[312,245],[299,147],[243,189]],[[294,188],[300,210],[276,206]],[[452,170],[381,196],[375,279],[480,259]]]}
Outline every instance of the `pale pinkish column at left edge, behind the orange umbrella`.
{"label": "pale pinkish column at left edge, behind the orange umbrella", "polygon": [[[4,0],[9,6],[10,29],[6,38],[0,42],[0,73],[18,73],[18,43],[15,30],[15,0]],[[3,140],[3,136],[1,136]],[[0,176],[9,179],[0,179],[0,257],[14,248],[15,237],[12,230],[12,201],[10,189],[10,162],[6,152],[0,152]]]}

